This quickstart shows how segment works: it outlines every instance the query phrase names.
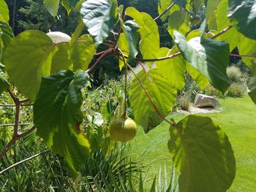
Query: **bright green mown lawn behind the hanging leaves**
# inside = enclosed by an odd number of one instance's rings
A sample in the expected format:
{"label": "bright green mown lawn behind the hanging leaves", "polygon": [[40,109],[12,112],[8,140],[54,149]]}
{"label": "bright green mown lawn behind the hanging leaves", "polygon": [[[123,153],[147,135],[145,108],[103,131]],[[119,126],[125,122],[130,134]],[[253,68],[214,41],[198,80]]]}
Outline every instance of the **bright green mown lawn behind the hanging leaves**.
{"label": "bright green mown lawn behind the hanging leaves", "polygon": [[[229,191],[256,191],[256,106],[249,97],[238,99],[221,99],[223,111],[203,114],[219,123],[233,146],[236,156],[236,178]],[[184,115],[173,114],[168,118],[176,121]],[[148,177],[154,178],[159,168],[167,166],[170,173],[171,159],[167,150],[169,132],[167,123],[144,134],[140,128],[130,145],[133,159],[148,165]],[[163,171],[163,170],[162,170]],[[169,174],[170,175],[170,174]],[[169,176],[168,175],[168,176]]]}

